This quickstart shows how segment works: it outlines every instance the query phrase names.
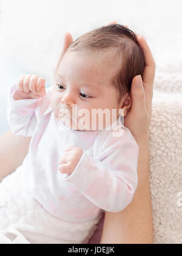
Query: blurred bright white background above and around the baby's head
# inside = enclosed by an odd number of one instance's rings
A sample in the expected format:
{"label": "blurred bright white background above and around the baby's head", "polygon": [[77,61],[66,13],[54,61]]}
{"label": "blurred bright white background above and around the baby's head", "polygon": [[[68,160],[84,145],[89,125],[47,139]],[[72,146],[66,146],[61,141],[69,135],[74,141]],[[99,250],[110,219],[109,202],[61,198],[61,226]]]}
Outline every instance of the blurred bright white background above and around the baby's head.
{"label": "blurred bright white background above and around the baby's head", "polygon": [[156,72],[182,74],[181,7],[180,0],[0,0],[0,135],[9,130],[8,87],[22,74],[41,75],[50,86],[66,31],[76,40],[110,21],[127,24],[146,38]]}

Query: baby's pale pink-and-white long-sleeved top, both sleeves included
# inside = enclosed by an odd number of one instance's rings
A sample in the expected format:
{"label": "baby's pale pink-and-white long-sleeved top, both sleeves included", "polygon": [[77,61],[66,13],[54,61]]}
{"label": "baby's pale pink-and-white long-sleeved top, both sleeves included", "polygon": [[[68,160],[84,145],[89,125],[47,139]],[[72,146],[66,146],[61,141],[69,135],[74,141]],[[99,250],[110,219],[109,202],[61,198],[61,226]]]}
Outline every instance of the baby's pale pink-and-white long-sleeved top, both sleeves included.
{"label": "baby's pale pink-and-white long-sleeved top, both sleeves included", "polygon": [[[56,220],[93,226],[101,212],[120,212],[132,201],[138,183],[138,144],[125,126],[121,137],[114,137],[112,130],[67,128],[50,105],[52,88],[41,99],[14,100],[15,83],[8,91],[7,116],[13,133],[32,136],[21,165],[22,188]],[[70,176],[58,170],[69,145],[83,149]],[[81,239],[76,243],[83,243]]]}

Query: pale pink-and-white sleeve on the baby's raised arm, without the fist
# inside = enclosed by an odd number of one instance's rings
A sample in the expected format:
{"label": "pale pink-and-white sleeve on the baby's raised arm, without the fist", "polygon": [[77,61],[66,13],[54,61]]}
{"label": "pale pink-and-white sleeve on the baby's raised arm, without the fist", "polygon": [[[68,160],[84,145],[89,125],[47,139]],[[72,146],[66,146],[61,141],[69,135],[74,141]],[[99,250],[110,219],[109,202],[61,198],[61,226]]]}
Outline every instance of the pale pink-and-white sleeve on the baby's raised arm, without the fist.
{"label": "pale pink-and-white sleeve on the baby's raised arm, without the fist", "polygon": [[14,100],[15,91],[16,83],[13,83],[8,89],[7,119],[13,133],[30,137],[35,131],[41,113],[49,106],[49,100],[47,94],[46,97],[39,99]]}

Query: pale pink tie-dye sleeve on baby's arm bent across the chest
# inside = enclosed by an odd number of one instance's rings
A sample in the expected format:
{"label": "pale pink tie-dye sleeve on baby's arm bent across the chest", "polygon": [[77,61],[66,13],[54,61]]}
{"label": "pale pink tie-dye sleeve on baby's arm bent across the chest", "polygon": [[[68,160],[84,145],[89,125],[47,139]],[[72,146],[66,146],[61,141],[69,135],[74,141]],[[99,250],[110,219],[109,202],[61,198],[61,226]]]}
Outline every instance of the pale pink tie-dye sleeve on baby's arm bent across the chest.
{"label": "pale pink tie-dye sleeve on baby's arm bent across the chest", "polygon": [[120,212],[132,201],[138,184],[138,153],[138,144],[127,134],[103,151],[102,161],[83,151],[73,173],[63,178],[99,208]]}

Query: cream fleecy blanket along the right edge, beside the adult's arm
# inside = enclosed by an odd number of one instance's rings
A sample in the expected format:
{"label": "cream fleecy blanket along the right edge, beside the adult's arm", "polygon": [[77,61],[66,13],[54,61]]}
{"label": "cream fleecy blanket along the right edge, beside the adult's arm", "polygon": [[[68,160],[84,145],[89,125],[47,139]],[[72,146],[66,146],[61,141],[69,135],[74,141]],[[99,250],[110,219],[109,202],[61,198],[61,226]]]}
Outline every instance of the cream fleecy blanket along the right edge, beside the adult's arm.
{"label": "cream fleecy blanket along the right edge, beside the adult's arm", "polygon": [[182,243],[181,67],[157,69],[155,77],[149,145],[154,243]]}

